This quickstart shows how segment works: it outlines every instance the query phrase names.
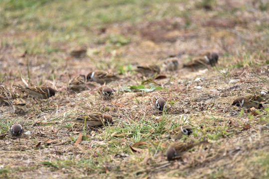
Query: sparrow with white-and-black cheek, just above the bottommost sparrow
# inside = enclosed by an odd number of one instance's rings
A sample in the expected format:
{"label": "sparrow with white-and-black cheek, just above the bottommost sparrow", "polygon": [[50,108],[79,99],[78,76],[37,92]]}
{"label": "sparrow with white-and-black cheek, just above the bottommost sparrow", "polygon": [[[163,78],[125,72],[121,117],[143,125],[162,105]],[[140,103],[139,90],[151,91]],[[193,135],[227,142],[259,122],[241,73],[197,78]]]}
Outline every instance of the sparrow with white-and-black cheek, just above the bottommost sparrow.
{"label": "sparrow with white-and-black cheek, just above the bottommost sparrow", "polygon": [[175,141],[177,139],[181,139],[183,135],[191,135],[193,133],[192,127],[190,125],[184,125],[180,127],[176,127],[168,132],[169,137]]}

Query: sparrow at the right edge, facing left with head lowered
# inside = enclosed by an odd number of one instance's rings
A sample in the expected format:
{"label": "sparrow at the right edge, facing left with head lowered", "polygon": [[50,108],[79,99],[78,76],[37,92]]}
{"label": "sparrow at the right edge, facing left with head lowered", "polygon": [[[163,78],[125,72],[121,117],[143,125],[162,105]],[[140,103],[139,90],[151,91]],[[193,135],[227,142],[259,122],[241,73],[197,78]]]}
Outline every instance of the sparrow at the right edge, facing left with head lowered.
{"label": "sparrow at the right edge, facing left with head lowered", "polygon": [[236,98],[232,103],[232,105],[236,105],[238,107],[246,107],[246,108],[255,107],[257,109],[261,109],[261,107],[263,107],[261,102],[266,99],[268,99],[267,94],[253,94],[245,97]]}

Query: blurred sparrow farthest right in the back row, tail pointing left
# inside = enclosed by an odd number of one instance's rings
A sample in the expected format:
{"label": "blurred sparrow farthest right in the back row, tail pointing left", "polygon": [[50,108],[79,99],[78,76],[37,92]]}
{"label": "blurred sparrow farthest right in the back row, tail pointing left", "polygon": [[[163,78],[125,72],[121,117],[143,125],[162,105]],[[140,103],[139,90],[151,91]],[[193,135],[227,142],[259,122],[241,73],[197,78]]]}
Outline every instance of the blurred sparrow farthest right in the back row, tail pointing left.
{"label": "blurred sparrow farthest right in the back row, tail pointing left", "polygon": [[183,68],[195,68],[195,67],[207,67],[211,65],[212,67],[216,65],[219,60],[219,55],[215,52],[207,52],[202,57],[197,57],[187,64],[183,64]]}

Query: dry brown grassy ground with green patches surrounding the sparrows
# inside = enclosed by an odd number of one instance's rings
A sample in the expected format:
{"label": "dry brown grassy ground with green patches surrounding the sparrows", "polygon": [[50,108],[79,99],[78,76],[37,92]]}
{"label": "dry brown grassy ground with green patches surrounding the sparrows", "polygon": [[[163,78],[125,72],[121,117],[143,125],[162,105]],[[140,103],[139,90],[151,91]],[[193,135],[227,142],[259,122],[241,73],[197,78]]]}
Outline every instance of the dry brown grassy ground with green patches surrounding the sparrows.
{"label": "dry brown grassy ground with green patches surrounding the sparrows", "polygon": [[[266,0],[1,1],[0,83],[27,111],[0,105],[0,178],[269,178],[267,101],[259,110],[231,105],[269,89],[268,11]],[[70,55],[82,47],[84,56]],[[162,69],[169,56],[182,67],[207,51],[219,54],[216,67]],[[145,81],[133,71],[145,64],[159,65],[164,78]],[[108,84],[112,99],[99,98],[98,84],[66,88],[97,70],[122,78]],[[13,86],[23,80],[56,95],[33,100]],[[164,112],[151,109],[156,94],[167,101]],[[115,122],[85,131],[64,122],[90,112]],[[14,122],[30,135],[11,137]],[[194,132],[181,141],[210,144],[168,162],[173,141],[165,135],[183,124]]]}

